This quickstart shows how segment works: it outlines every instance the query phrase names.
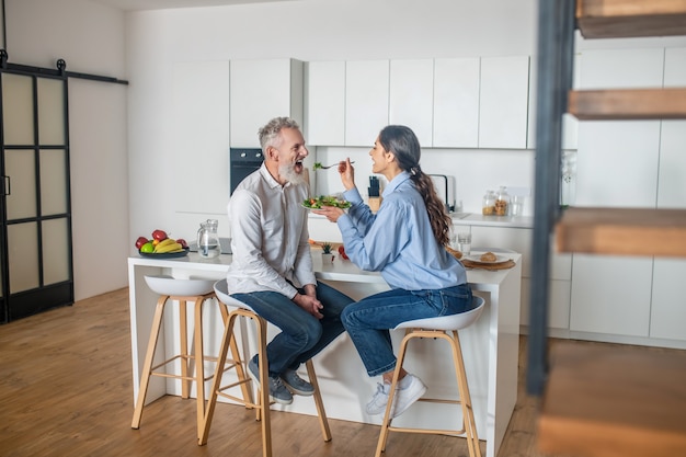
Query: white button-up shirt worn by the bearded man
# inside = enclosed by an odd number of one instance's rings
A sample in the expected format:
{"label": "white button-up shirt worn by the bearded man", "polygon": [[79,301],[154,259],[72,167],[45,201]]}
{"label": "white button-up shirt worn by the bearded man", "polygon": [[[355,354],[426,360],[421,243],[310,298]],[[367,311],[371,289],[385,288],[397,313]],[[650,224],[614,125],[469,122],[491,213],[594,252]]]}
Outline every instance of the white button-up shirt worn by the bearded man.
{"label": "white button-up shirt worn by the bearded man", "polygon": [[264,163],[233,191],[228,205],[232,261],[229,292],[273,290],[288,298],[296,288],[317,284],[312,271],[307,184],[282,186]]}

